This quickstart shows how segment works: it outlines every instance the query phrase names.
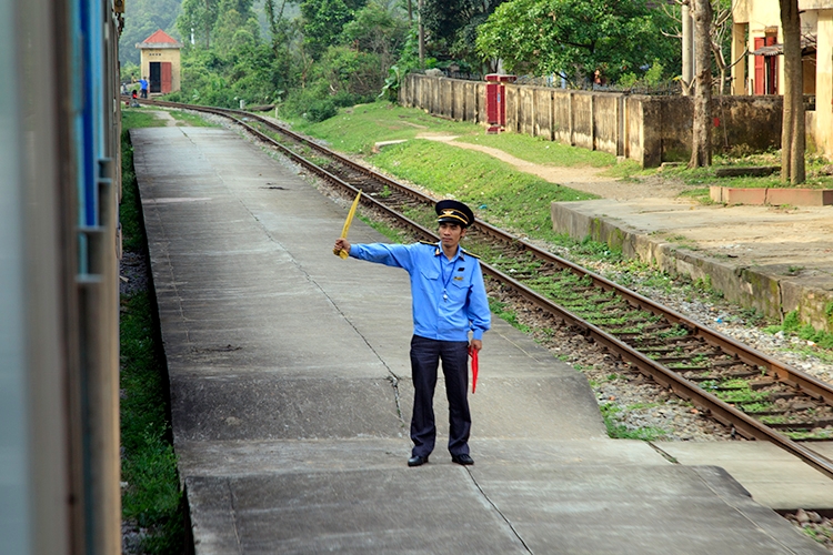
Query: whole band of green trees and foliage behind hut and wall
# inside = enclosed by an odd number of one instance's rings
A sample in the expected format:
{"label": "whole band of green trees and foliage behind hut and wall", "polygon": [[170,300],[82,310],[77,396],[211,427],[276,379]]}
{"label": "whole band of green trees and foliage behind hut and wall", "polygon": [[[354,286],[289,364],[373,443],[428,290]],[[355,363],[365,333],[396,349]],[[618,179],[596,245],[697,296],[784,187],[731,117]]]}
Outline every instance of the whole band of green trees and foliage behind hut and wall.
{"label": "whole band of green trees and foliage behind hut and wall", "polygon": [[[714,0],[722,6],[727,0]],[[341,105],[394,99],[421,68],[503,70],[652,88],[680,72],[680,8],[649,0],[131,0],[122,77],[163,29],[182,40],[182,91],[171,100],[223,107],[277,104],[318,120]],[[729,13],[722,10],[721,13]],[[420,60],[418,17],[424,27]],[[715,22],[722,53],[731,19]],[[716,56],[716,72],[725,56]]]}

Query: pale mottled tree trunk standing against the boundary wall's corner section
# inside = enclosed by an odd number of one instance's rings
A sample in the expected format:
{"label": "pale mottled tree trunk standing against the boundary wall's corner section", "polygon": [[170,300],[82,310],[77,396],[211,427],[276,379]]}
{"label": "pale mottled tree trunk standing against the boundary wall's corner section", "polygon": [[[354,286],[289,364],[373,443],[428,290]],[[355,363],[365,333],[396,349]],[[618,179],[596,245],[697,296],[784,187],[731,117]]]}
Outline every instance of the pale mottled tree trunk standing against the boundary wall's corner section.
{"label": "pale mottled tree trunk standing against the boundary wall's corner section", "polygon": [[694,0],[694,120],[692,123],[691,160],[689,168],[712,164],[712,4]]}

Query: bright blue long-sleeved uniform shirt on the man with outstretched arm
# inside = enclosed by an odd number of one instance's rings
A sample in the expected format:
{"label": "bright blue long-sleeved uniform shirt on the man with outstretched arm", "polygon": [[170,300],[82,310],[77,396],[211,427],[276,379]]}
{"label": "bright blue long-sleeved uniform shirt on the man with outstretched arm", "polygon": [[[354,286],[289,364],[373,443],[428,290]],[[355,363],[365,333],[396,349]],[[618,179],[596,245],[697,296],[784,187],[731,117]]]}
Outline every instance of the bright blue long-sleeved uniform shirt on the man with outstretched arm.
{"label": "bright blue long-sleeved uniform shirt on the man with outstretched arm", "polygon": [[449,260],[439,244],[353,244],[350,256],[402,268],[411,275],[413,333],[440,341],[482,340],[491,326],[480,261],[458,249]]}

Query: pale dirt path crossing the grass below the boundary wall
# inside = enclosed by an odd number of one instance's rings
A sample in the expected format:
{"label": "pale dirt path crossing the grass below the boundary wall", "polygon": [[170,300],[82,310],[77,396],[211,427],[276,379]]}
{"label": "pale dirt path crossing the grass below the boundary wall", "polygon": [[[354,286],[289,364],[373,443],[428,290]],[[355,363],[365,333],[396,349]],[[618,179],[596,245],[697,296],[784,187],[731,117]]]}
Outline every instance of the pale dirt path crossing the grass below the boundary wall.
{"label": "pale dirt path crossing the grass below the boundary wall", "polygon": [[599,168],[564,168],[536,164],[521,160],[520,158],[515,158],[512,154],[492,147],[456,142],[454,141],[454,139],[456,139],[455,135],[420,133],[416,138],[429,141],[440,141],[461,149],[476,150],[494,157],[519,171],[531,173],[551,183],[558,183],[586,193],[594,193],[604,199],[630,200],[643,198],[674,198],[682,191],[686,190],[686,186],[682,183],[669,182],[659,178],[650,178],[639,181],[622,181],[601,175],[604,170]]}

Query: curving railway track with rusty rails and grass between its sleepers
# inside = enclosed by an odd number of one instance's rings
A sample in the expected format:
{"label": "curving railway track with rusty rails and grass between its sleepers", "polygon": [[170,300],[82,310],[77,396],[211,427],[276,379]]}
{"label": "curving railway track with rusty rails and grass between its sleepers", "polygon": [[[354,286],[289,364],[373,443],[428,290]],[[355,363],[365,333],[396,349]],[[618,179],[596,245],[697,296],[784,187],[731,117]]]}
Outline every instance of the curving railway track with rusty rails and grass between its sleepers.
{"label": "curving railway track with rusty rails and grass between its sleepers", "polygon": [[[152,101],[230,118],[351,198],[436,240],[434,199],[369,170],[268,119],[215,108]],[[751,440],[772,442],[833,477],[813,441],[833,438],[833,387],[605,278],[485,222],[466,234],[486,285],[581,330],[621,361],[672,389]]]}

